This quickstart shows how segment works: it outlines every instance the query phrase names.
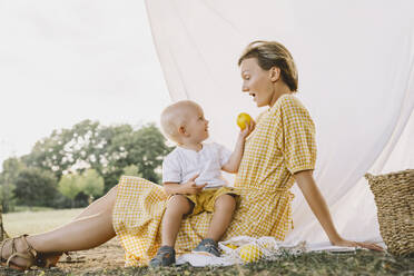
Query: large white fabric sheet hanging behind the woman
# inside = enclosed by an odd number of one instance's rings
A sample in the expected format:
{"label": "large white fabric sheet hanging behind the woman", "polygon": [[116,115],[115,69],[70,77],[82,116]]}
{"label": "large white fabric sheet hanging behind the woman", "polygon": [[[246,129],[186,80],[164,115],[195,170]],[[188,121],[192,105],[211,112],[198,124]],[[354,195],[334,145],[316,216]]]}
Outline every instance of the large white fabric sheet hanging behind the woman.
{"label": "large white fabric sheet hanging behind the woman", "polygon": [[[241,93],[237,59],[253,40],[277,40],[299,71],[298,97],[317,128],[315,177],[338,230],[379,236],[366,171],[414,167],[414,2],[411,0],[147,0],[172,100],[199,102],[211,139],[233,147]],[[410,121],[408,121],[410,119]],[[288,240],[326,240],[297,188]]]}

